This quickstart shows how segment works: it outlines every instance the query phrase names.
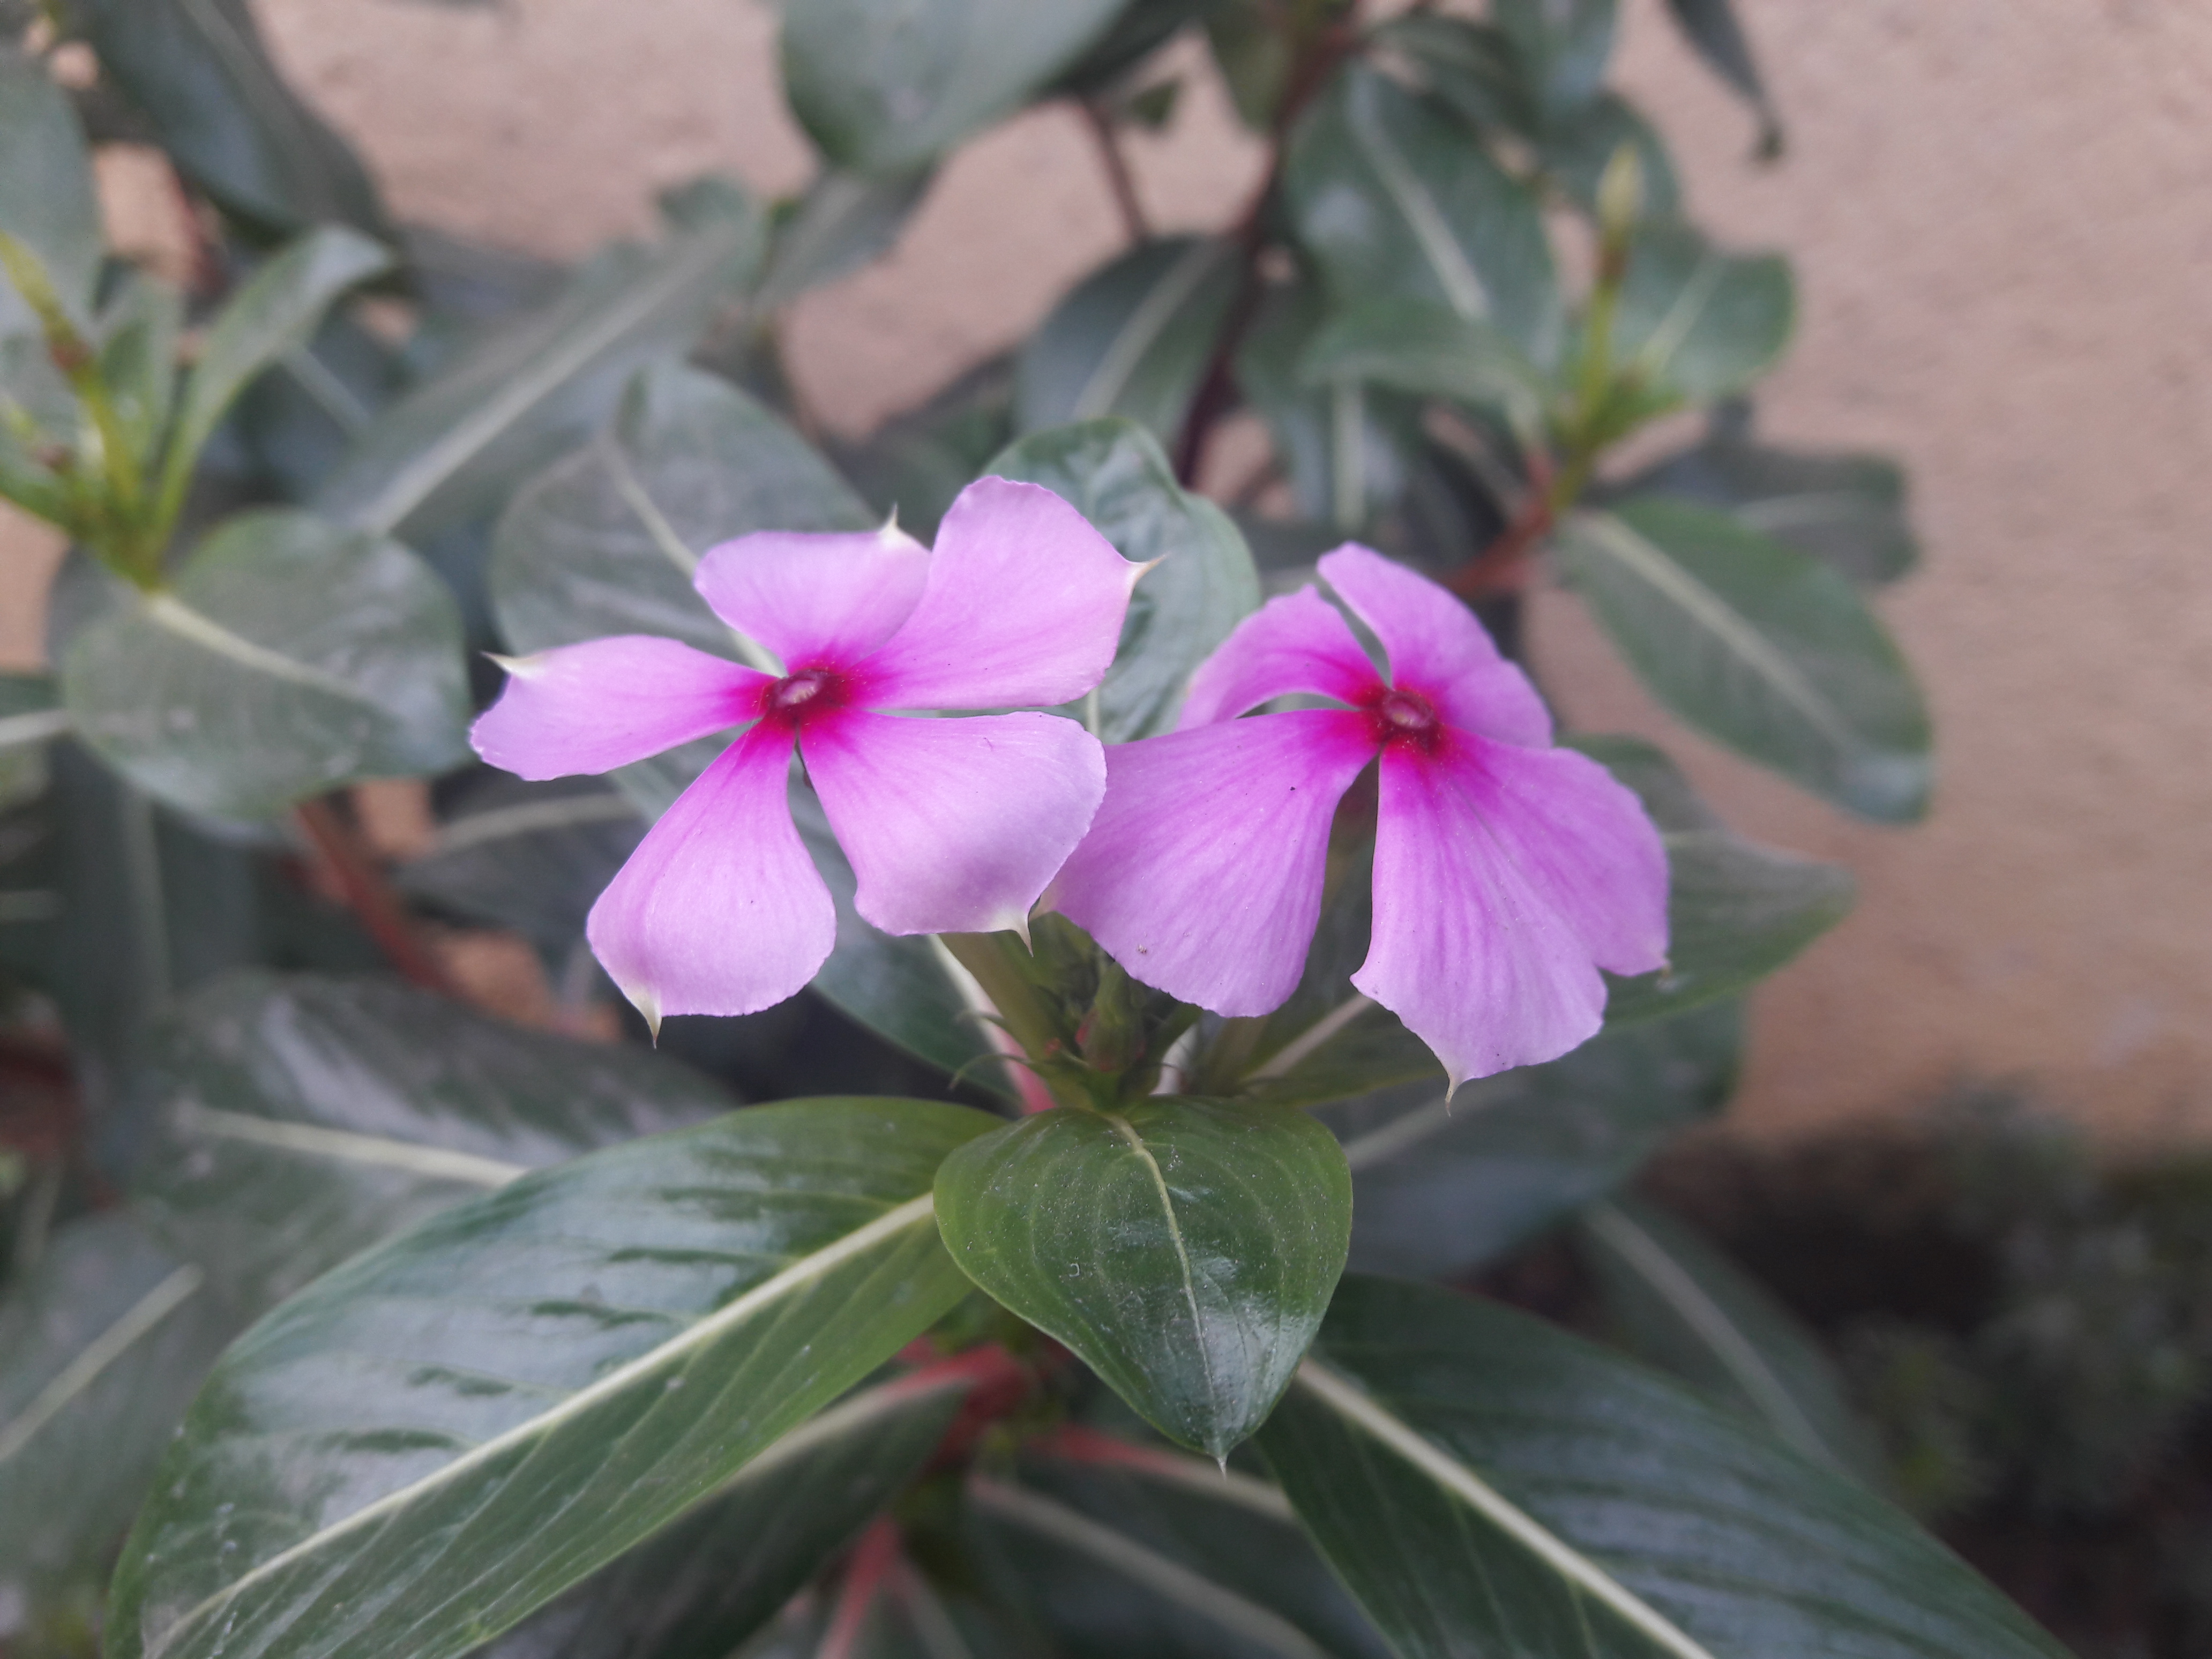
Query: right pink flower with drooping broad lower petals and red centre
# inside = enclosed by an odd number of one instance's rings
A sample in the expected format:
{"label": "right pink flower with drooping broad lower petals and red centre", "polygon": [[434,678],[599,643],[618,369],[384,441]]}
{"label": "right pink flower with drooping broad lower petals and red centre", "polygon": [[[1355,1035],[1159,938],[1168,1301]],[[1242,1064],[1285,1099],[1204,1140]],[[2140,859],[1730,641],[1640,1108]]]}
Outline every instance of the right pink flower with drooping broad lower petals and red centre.
{"label": "right pink flower with drooping broad lower petals and red centre", "polygon": [[[1453,1088],[1553,1060],[1604,1020],[1597,969],[1666,958],[1659,834],[1601,765],[1551,748],[1535,688],[1467,606],[1356,544],[1321,575],[1389,677],[1314,588],[1270,599],[1192,677],[1177,732],[1106,752],[1106,803],[1046,905],[1146,984],[1267,1013],[1305,964],[1336,803],[1380,757],[1352,984]],[[1292,692],[1343,708],[1237,719]]]}

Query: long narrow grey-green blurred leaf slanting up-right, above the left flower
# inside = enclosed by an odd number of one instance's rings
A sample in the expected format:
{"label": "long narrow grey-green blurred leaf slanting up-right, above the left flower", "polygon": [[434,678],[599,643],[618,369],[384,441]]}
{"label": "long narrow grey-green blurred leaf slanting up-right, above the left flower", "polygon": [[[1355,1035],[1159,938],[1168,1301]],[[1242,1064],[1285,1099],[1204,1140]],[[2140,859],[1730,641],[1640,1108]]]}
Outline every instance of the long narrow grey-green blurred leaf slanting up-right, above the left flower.
{"label": "long narrow grey-green blurred leaf slanting up-right, above the left flower", "polygon": [[752,279],[759,215],[717,192],[657,248],[615,243],[557,299],[507,323],[367,425],[316,504],[338,522],[416,533],[491,511],[595,431],[630,376],[681,356]]}

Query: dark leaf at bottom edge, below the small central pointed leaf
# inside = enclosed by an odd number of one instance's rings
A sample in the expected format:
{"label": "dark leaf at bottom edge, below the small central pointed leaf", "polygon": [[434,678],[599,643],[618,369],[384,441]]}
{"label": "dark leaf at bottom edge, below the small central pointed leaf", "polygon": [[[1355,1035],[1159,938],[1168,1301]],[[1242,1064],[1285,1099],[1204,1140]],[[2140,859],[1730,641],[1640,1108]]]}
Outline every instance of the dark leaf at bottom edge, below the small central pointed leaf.
{"label": "dark leaf at bottom edge, below the small central pointed leaf", "polygon": [[967,1489],[984,1582],[1068,1655],[1385,1659],[1272,1484],[1097,1433],[1082,1451]]}

